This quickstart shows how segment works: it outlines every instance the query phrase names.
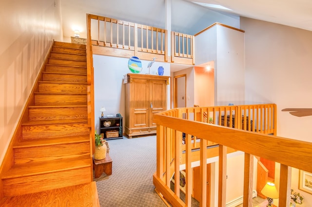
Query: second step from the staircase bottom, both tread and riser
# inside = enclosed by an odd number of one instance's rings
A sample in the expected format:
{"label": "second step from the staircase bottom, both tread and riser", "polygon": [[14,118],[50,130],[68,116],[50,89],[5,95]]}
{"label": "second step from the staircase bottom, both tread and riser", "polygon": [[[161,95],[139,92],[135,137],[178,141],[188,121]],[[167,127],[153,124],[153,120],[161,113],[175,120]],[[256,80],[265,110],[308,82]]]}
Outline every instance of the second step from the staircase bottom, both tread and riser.
{"label": "second step from the staircase bottom, both tread and riser", "polygon": [[90,135],[28,139],[14,147],[14,164],[90,156]]}

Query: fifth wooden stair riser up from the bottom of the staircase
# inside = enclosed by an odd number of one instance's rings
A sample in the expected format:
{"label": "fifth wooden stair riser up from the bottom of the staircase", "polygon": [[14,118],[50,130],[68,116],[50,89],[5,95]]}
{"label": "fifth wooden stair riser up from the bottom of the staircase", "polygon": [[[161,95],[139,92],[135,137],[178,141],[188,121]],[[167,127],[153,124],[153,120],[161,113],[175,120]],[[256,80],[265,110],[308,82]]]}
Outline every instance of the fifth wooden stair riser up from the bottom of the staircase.
{"label": "fifth wooden stair riser up from the bottom of the staircase", "polygon": [[85,93],[35,93],[35,105],[86,105],[87,94]]}

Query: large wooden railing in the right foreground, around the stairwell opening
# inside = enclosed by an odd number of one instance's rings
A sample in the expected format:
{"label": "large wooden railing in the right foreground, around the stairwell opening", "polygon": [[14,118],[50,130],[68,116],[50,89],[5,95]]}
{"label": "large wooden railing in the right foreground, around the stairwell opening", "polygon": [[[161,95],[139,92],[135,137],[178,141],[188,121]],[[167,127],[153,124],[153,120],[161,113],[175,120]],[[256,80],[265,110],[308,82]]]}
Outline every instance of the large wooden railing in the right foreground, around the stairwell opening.
{"label": "large wooden railing in the right foreground, around the stairwell opening", "polygon": [[[207,113],[208,117],[213,117],[214,124],[207,123],[203,118],[204,113]],[[225,115],[230,118],[230,126],[233,124],[231,117],[235,117],[234,128],[220,126],[222,116]],[[241,124],[242,120],[244,120],[243,124]],[[216,191],[219,207],[226,205],[226,168],[229,152],[244,152],[244,181],[242,182],[245,207],[252,207],[254,155],[280,163],[279,206],[281,207],[290,204],[291,167],[312,172],[312,143],[275,136],[275,104],[176,108],[155,114],[154,122],[157,124],[157,164],[154,185],[158,194],[172,206],[191,206],[192,167],[195,161],[200,163],[202,197],[199,203],[201,206],[206,206],[207,169],[203,166],[207,165],[210,154],[218,156],[219,160],[219,179],[215,181],[218,183]],[[246,130],[240,130],[243,126]],[[183,134],[185,147],[182,144]],[[193,150],[194,138],[199,139],[196,152]],[[207,148],[208,142],[217,145],[218,149]],[[181,155],[183,149],[185,150]],[[185,202],[180,199],[178,182],[175,182],[174,191],[170,189],[172,175],[175,174],[175,180],[179,180],[177,172],[181,169],[186,171]]]}

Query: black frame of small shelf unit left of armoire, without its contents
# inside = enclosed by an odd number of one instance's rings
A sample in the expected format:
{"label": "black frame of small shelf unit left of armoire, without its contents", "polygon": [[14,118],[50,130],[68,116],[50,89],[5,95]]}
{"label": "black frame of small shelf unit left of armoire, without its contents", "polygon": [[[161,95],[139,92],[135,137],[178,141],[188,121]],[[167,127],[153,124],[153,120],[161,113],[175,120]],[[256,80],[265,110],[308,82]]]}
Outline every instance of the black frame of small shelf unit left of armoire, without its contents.
{"label": "black frame of small shelf unit left of armoire, without its contents", "polygon": [[[108,127],[104,126],[104,121],[110,121],[111,124]],[[117,139],[117,138],[123,138],[122,134],[122,117],[99,117],[99,132],[98,134],[102,134],[103,138],[106,140],[109,139]],[[106,137],[106,132],[107,131],[117,131],[118,136],[117,137],[112,137],[112,138],[107,138]]]}

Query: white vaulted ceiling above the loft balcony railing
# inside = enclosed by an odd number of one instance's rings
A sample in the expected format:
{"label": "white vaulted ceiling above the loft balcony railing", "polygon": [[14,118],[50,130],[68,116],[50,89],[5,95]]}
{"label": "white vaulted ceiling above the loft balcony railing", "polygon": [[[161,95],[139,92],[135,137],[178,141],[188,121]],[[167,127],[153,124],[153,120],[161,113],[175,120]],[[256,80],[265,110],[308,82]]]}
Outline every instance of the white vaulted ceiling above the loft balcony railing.
{"label": "white vaulted ceiling above the loft balcony railing", "polygon": [[[218,4],[230,10],[200,6],[194,1]],[[165,28],[165,0],[61,0],[63,33],[86,30],[86,13]],[[195,35],[209,25],[226,21],[236,26],[250,17],[312,31],[312,0],[171,0],[172,31]],[[221,22],[223,23],[223,22]]]}

